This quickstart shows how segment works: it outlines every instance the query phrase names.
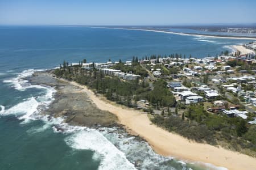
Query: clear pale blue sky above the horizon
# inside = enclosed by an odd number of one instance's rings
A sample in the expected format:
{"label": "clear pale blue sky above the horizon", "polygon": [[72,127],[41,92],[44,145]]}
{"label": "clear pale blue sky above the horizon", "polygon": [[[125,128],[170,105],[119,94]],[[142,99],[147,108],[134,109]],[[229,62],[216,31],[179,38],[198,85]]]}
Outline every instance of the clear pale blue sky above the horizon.
{"label": "clear pale blue sky above the horizon", "polygon": [[0,24],[256,23],[255,0],[0,0]]}

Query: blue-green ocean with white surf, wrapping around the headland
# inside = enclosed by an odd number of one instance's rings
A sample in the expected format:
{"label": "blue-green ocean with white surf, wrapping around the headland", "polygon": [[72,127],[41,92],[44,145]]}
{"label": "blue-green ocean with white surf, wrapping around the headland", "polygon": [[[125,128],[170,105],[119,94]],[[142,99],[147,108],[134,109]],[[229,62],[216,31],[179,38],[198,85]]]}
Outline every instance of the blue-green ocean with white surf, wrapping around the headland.
{"label": "blue-green ocean with white surf, wrapping around the headland", "polygon": [[[125,29],[0,26],[0,169],[208,169],[163,157],[116,128],[97,131],[40,116],[55,90],[31,85],[38,69],[151,54],[215,56],[248,40]],[[57,131],[61,126],[65,131]],[[110,133],[112,132],[112,133]]]}

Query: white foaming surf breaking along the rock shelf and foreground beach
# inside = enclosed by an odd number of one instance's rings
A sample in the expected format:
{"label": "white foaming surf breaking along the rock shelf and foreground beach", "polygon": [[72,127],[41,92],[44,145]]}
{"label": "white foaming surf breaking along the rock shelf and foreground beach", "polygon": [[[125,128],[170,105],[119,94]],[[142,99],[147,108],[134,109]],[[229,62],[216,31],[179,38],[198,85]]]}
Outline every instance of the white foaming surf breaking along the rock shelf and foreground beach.
{"label": "white foaming surf breaking along the rock shelf and foreground beach", "polygon": [[[42,116],[40,111],[46,108],[54,99],[56,92],[52,87],[32,85],[26,80],[35,71],[25,70],[16,78],[5,80],[11,83],[16,90],[24,91],[28,88],[44,90],[42,96],[32,96],[11,108],[5,109],[0,105],[0,114],[14,114],[22,123],[31,120],[42,120],[43,126],[32,126],[28,134],[42,133],[52,129],[54,133],[68,134],[65,142],[75,150],[94,151],[93,159],[101,160],[99,169],[182,169],[191,170],[188,164],[176,161],[174,158],[156,154],[147,142],[131,137],[125,130],[119,128],[89,129],[81,126],[71,126],[65,123],[64,118]],[[42,70],[41,70],[42,71]]]}

